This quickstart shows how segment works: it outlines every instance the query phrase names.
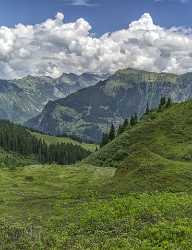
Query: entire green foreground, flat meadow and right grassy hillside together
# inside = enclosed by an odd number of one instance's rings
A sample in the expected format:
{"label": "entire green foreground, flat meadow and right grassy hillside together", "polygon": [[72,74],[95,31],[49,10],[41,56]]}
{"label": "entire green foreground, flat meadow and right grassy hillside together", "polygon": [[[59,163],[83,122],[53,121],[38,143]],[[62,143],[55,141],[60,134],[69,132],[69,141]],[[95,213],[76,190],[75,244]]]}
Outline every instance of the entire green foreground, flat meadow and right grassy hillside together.
{"label": "entire green foreground, flat meadow and right grassy hillside together", "polygon": [[191,114],[162,99],[78,165],[2,168],[0,248],[191,249]]}

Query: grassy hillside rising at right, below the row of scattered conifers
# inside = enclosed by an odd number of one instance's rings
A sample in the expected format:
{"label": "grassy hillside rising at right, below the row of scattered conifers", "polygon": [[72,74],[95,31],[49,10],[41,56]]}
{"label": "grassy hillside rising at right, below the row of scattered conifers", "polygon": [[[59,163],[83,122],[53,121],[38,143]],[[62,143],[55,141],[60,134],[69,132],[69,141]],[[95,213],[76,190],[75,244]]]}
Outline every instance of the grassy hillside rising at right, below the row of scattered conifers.
{"label": "grassy hillside rising at right, below the row of scattered conifers", "polygon": [[150,113],[86,162],[118,168],[120,190],[192,190],[192,101]]}

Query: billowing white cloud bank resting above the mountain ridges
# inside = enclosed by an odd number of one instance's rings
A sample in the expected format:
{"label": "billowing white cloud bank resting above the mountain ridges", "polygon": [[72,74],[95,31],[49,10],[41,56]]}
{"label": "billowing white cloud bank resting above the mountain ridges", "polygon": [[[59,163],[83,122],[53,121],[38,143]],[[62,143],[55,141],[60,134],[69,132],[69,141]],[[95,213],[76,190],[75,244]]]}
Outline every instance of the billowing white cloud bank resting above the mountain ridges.
{"label": "billowing white cloud bank resting above the mountain ridges", "polygon": [[0,78],[58,77],[63,72],[113,73],[131,67],[155,72],[192,71],[192,29],[165,29],[149,14],[126,29],[96,38],[80,18],[58,13],[37,25],[0,27]]}

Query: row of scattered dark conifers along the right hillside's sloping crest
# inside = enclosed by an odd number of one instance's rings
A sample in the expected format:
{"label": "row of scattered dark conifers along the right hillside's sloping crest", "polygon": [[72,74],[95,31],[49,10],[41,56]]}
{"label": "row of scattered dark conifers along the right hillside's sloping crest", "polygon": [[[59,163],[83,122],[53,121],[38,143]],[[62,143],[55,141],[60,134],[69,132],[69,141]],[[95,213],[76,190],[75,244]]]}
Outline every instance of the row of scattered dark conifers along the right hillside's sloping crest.
{"label": "row of scattered dark conifers along the right hillside's sloping crest", "polygon": [[[159,106],[156,109],[156,111],[161,112],[165,108],[170,107],[171,104],[172,104],[171,98],[170,97],[166,98],[166,97],[163,96],[160,99],[160,103],[159,103]],[[144,115],[148,115],[151,112],[152,112],[152,110],[150,109],[149,103],[147,103]],[[116,136],[119,136],[120,134],[122,134],[128,127],[135,126],[138,123],[138,121],[139,121],[138,115],[134,114],[134,115],[131,116],[130,119],[126,118],[124,120],[124,122],[119,125],[117,130],[116,130],[114,124],[112,123],[111,127],[110,127],[110,130],[109,130],[109,133],[103,133],[102,140],[101,140],[101,143],[100,143],[100,147],[102,148],[103,146],[105,146],[109,142],[113,141]]]}

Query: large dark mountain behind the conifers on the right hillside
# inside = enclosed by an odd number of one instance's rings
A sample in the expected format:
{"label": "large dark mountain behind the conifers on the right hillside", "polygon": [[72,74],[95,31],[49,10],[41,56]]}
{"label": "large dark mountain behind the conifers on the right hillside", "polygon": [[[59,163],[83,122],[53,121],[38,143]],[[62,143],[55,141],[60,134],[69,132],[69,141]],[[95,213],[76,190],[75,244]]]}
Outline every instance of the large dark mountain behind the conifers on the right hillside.
{"label": "large dark mountain behind the conifers on the right hillside", "polygon": [[75,134],[99,141],[111,122],[119,124],[134,113],[142,115],[147,103],[157,107],[161,96],[184,101],[192,96],[192,74],[157,74],[120,70],[95,86],[49,102],[27,126],[51,134]]}

